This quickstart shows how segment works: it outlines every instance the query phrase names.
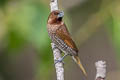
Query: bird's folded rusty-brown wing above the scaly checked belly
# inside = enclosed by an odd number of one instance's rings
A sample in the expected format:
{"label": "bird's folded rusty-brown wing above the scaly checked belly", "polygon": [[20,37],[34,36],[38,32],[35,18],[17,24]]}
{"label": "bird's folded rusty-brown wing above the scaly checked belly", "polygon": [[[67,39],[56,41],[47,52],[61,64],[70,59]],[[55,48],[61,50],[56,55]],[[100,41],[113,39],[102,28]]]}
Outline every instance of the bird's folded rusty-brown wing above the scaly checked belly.
{"label": "bird's folded rusty-brown wing above the scaly checked belly", "polygon": [[[72,40],[72,38],[70,37],[70,34],[66,28],[66,25],[63,24],[59,27],[59,29],[57,29],[56,31],[56,36],[59,39],[62,39],[62,41],[64,41],[64,43],[66,43],[66,45],[68,47],[70,47],[71,49],[73,49],[75,52],[78,52],[78,49],[74,43],[74,41]],[[62,45],[62,44],[61,44]]]}

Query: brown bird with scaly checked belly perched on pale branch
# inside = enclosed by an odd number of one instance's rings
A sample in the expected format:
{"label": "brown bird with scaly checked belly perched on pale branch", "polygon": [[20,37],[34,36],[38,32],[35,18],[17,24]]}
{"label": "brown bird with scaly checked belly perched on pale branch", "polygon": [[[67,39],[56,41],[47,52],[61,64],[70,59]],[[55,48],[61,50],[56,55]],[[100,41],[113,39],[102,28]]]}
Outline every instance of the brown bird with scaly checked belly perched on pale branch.
{"label": "brown bird with scaly checked belly perched on pale branch", "polygon": [[87,76],[80,58],[78,57],[78,48],[71,38],[71,35],[63,21],[63,17],[63,11],[55,10],[49,14],[47,20],[48,35],[52,43],[54,43],[56,47],[64,53],[64,56],[57,62],[63,61],[66,56],[70,55],[72,56],[72,59],[78,64],[83,74]]}

